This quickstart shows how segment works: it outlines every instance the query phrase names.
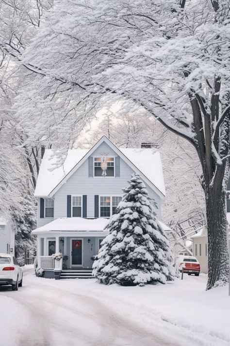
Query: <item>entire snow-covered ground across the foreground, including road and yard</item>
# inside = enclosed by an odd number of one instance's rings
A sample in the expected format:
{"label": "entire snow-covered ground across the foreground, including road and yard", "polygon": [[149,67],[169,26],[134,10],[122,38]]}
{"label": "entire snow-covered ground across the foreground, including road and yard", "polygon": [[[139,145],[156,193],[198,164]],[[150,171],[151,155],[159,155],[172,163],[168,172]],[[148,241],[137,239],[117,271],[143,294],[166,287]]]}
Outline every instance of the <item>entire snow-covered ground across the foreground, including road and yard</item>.
{"label": "entire snow-covered ground across the foreground, including road and yard", "polygon": [[95,279],[37,278],[0,288],[0,345],[229,346],[227,288],[205,291],[206,276],[173,284],[119,287]]}

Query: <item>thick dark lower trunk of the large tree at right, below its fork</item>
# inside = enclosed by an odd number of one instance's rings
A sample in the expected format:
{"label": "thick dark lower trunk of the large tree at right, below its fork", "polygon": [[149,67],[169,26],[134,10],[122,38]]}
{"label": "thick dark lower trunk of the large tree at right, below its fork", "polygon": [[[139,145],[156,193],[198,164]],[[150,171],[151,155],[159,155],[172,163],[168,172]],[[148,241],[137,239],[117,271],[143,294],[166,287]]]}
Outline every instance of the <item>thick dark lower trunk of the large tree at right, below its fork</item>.
{"label": "thick dark lower trunk of the large tree at right, below its fork", "polygon": [[216,182],[205,190],[209,268],[206,289],[210,290],[229,281],[226,192]]}

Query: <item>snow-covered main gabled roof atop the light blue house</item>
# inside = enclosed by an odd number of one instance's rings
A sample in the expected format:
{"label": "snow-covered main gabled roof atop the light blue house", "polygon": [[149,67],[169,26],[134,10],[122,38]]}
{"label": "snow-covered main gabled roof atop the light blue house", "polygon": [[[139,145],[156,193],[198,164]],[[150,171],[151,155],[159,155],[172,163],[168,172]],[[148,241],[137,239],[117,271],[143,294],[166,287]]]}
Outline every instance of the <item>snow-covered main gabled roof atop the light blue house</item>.
{"label": "snow-covered main gabled roof atop the light blue house", "polygon": [[[46,149],[40,166],[37,184],[34,192],[35,197],[52,196],[60,183],[65,182],[74,171],[90,156],[93,151],[105,141],[122,159],[133,164],[147,182],[152,183],[162,195],[165,196],[164,177],[160,153],[152,149],[140,148],[117,148],[106,136],[101,137],[99,142],[91,149],[70,149],[67,152],[64,164],[55,168],[57,157],[53,156],[51,149]],[[128,160],[127,160],[128,159]],[[61,185],[60,185],[61,186]]]}

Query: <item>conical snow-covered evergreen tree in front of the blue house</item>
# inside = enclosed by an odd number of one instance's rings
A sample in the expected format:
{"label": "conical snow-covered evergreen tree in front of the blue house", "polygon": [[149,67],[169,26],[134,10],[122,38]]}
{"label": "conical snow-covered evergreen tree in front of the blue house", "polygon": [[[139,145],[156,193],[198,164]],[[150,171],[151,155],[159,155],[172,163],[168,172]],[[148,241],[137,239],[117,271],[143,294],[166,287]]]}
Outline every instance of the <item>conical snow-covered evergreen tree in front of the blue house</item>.
{"label": "conical snow-covered evergreen tree in front of the blue house", "polygon": [[102,241],[93,275],[104,284],[165,284],[174,277],[171,251],[139,175],[132,175],[124,192],[106,226],[110,233]]}

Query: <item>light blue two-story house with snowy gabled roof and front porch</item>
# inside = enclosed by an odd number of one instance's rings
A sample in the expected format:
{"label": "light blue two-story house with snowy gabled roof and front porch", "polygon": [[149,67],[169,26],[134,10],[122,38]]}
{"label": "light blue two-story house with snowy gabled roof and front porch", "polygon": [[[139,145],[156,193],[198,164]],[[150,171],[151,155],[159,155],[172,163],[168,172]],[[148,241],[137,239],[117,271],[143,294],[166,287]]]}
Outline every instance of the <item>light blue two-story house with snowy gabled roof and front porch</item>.
{"label": "light blue two-story house with snowy gabled roof and front porch", "polygon": [[[37,236],[38,267],[46,277],[58,271],[61,278],[91,276],[93,256],[107,235],[104,226],[134,172],[145,182],[161,220],[165,190],[155,148],[117,148],[103,136],[90,150],[69,150],[63,166],[52,170],[55,162],[52,150],[46,150],[35,189],[38,216],[32,233]],[[54,261],[51,255],[59,252],[68,258]]]}

